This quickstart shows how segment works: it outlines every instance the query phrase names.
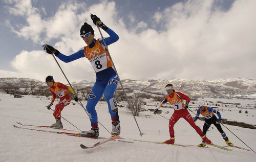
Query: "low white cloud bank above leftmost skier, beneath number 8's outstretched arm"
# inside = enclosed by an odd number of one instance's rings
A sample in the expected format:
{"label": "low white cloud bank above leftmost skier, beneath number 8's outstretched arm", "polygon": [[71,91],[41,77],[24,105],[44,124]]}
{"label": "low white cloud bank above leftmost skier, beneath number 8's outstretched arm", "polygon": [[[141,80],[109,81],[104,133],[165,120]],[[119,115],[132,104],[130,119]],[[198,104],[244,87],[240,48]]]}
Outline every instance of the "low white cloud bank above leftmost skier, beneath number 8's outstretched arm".
{"label": "low white cloud bank above leftmost skier, beneath number 8's outstretched arm", "polygon": [[[90,67],[90,63],[86,58],[71,63],[63,63],[57,57],[55,58],[70,82],[87,79],[94,81],[94,77],[87,77],[88,74],[94,76],[95,72],[91,68],[86,68]],[[55,59],[44,51],[22,51],[14,58],[11,64],[17,70],[16,73],[13,73],[16,77],[44,81],[48,75],[52,75],[56,80],[67,83]],[[6,72],[3,72],[4,75],[2,74],[1,77],[6,77]],[[76,78],[76,80],[73,78]]]}

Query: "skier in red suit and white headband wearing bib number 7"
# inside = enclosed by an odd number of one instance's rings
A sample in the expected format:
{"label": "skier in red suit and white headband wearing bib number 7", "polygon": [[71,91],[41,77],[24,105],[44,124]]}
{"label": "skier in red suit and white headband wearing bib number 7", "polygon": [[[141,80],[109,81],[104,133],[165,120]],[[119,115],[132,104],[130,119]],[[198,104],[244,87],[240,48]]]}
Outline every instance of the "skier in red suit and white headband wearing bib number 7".
{"label": "skier in red suit and white headband wearing bib number 7", "polygon": [[[176,92],[173,89],[173,84],[167,84],[165,86],[166,92],[168,96],[166,96],[158,105],[157,109],[154,111],[156,114],[159,108],[169,102],[174,107],[174,113],[169,120],[169,133],[170,133],[170,140],[165,141],[166,144],[174,144],[175,137],[174,137],[174,125],[180,119],[184,118],[196,131],[197,133],[203,138],[203,140],[211,144],[211,141],[203,134],[202,130],[195,124],[193,118],[191,117],[190,113],[188,112],[188,103],[190,102],[189,97],[182,94],[181,92]],[[183,99],[186,100],[186,104],[183,103]]]}

